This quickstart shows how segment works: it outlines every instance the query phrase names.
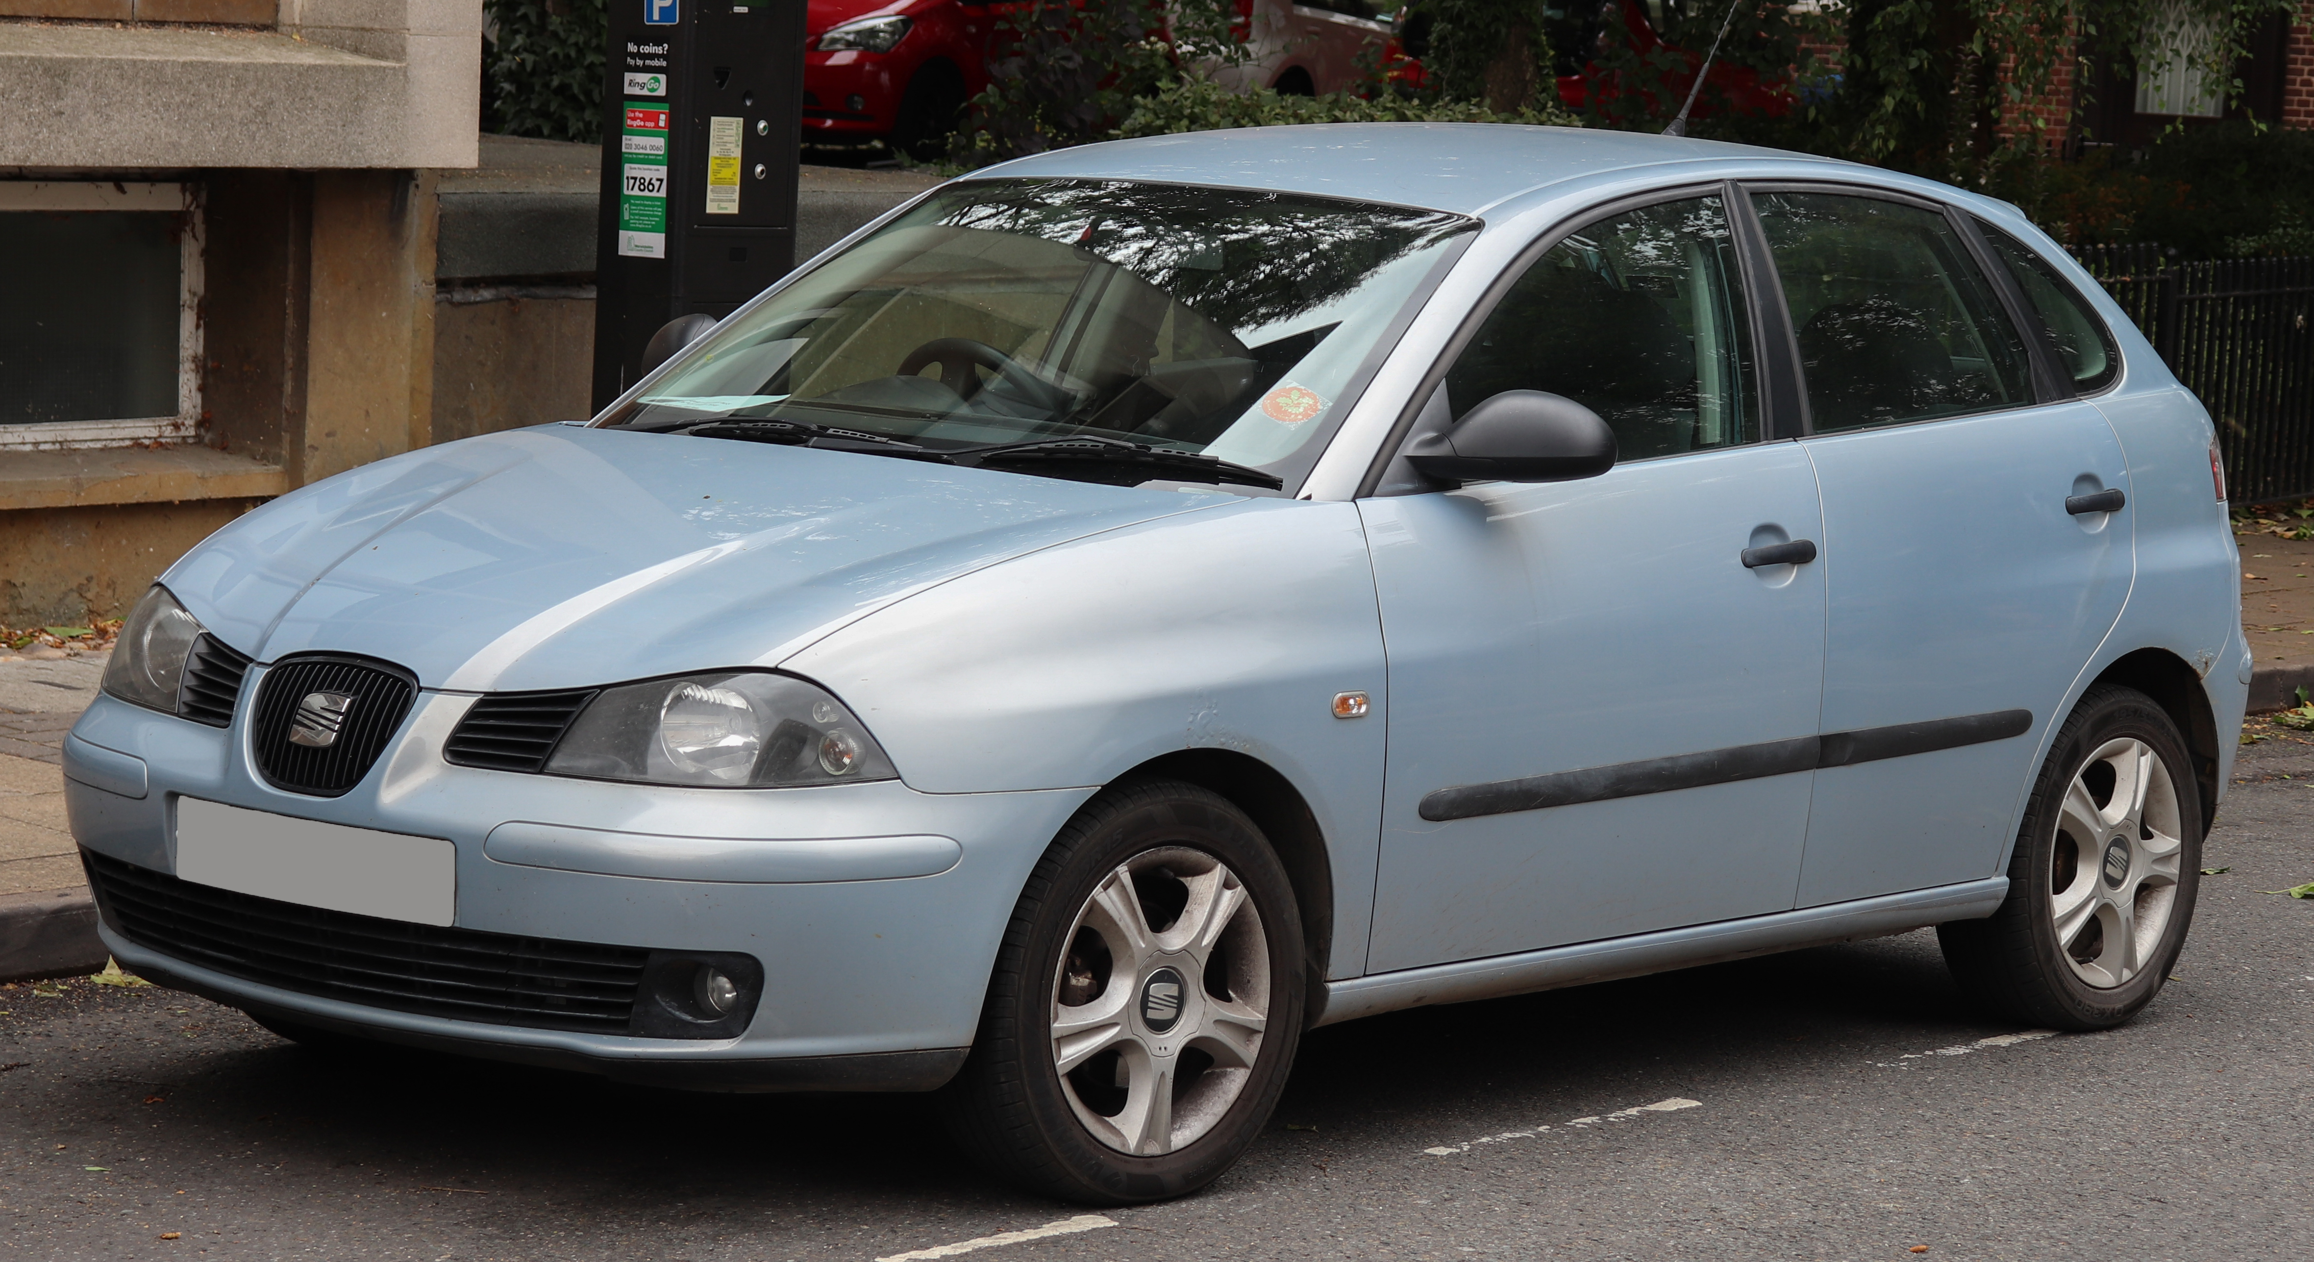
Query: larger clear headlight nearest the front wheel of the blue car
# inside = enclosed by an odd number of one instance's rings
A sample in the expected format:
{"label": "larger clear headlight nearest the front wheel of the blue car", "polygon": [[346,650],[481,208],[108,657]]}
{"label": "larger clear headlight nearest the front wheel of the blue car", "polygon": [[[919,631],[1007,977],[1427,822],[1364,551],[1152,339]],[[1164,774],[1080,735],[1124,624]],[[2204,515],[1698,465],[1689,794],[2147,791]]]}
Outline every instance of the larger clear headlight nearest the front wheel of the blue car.
{"label": "larger clear headlight nearest the front wheel of the blue car", "polygon": [[555,746],[546,773],[752,790],[898,778],[842,702],[771,672],[604,688]]}

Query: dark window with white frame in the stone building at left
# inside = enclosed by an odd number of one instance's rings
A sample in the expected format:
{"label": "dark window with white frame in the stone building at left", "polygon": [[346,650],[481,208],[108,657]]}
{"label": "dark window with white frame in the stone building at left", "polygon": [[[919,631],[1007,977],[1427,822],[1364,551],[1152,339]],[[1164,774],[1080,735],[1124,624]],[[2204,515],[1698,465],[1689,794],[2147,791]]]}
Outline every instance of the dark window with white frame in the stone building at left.
{"label": "dark window with white frame in the stone building at left", "polygon": [[0,452],[192,438],[197,185],[0,181]]}

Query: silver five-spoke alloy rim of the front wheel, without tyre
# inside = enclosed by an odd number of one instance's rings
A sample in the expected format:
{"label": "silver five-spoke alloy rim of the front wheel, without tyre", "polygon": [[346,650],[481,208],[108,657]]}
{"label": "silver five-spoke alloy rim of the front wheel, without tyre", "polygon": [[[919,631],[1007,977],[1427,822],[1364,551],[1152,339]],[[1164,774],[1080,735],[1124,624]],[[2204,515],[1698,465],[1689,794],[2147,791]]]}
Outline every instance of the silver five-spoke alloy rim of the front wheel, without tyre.
{"label": "silver five-spoke alloy rim of the front wheel, without tyre", "polygon": [[1245,1091],[1268,1012],[1268,938],[1238,875],[1201,850],[1143,850],[1101,878],[1069,929],[1053,1067],[1095,1139],[1173,1153]]}

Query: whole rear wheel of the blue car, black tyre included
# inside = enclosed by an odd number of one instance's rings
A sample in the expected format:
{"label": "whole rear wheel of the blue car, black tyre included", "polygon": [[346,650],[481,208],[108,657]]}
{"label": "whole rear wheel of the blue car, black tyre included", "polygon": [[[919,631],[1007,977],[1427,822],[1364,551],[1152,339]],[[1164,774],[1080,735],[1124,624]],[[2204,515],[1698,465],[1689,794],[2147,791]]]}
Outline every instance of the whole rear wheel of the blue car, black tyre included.
{"label": "whole rear wheel of the blue car, black tyre included", "polygon": [[1937,926],[1981,1003],[2057,1030],[2110,1030],[2168,979],[2201,885],[2201,794],[2152,697],[2099,685],[2034,780],[1992,919]]}

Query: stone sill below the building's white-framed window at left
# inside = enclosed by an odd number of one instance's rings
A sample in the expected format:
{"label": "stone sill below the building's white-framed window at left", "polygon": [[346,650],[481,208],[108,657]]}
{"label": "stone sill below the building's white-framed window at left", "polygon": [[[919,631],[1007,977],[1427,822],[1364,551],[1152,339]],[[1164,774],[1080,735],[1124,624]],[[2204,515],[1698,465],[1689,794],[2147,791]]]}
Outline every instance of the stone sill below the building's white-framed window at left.
{"label": "stone sill below the building's white-framed window at left", "polygon": [[252,500],[289,491],[289,472],[211,447],[7,452],[0,509]]}

